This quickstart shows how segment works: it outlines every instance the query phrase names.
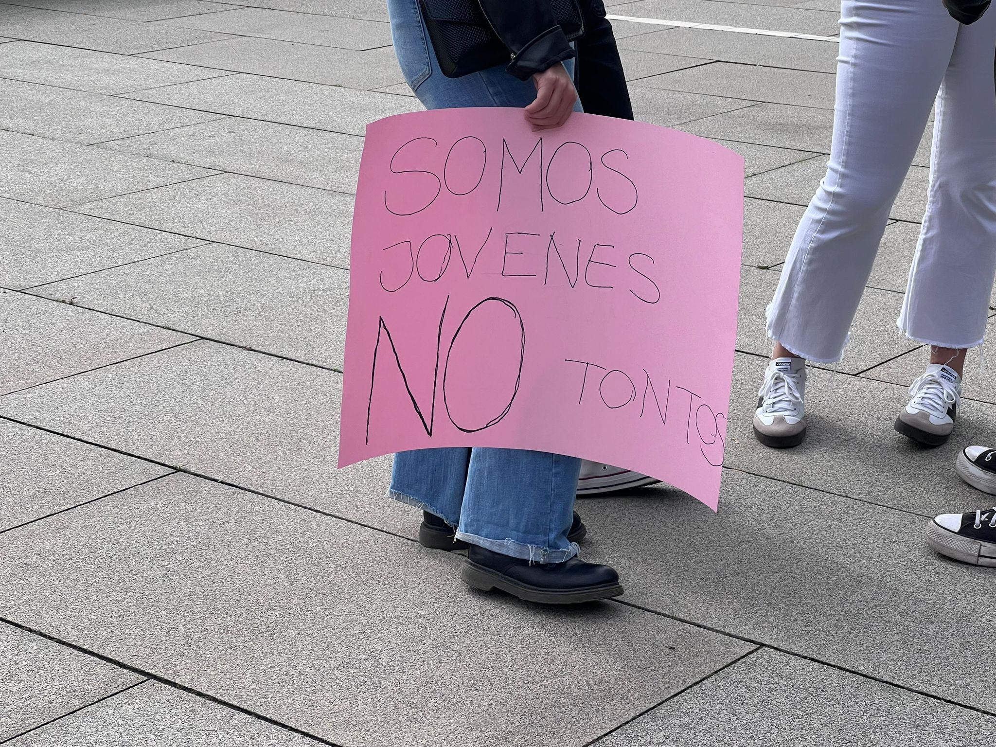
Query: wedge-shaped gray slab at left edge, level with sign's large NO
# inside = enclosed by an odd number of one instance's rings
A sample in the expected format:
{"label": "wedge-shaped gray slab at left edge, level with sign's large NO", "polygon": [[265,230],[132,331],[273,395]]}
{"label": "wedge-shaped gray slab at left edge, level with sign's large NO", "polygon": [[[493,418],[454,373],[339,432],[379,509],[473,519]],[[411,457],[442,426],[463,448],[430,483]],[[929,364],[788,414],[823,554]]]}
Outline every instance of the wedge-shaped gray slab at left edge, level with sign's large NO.
{"label": "wedge-shaped gray slab at left edge, level with sign's large NO", "polygon": [[178,345],[191,338],[0,290],[0,394]]}

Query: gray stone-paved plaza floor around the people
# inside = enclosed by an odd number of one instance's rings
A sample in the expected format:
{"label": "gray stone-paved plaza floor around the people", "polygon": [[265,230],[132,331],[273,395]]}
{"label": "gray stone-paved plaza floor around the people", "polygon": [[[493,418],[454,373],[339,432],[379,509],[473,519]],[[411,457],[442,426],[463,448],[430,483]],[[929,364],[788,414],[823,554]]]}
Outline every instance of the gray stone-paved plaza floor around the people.
{"label": "gray stone-paved plaza floor around the people", "polygon": [[551,610],[421,549],[386,460],[335,469],[364,127],[419,109],[383,0],[0,2],[0,742],[996,743],[993,572],[923,541],[990,505],[951,466],[996,441],[993,357],[949,445],[892,430],[927,140],[809,440],[767,450],[763,312],[830,147],[839,5],[611,4],[665,22],[617,23],[637,118],[746,156],[730,448],[716,516],[581,502],[626,594]]}

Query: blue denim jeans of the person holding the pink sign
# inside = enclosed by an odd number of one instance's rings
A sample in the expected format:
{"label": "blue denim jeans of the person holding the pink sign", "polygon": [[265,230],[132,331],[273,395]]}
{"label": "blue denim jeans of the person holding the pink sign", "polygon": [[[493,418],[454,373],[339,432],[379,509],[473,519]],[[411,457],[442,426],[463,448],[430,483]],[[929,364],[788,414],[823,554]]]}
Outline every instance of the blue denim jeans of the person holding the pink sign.
{"label": "blue denim jeans of the person holding the pink sign", "polygon": [[[439,70],[418,0],[387,0],[394,51],[408,86],[426,109],[522,108],[536,98],[531,81],[504,68],[463,78]],[[565,67],[574,75],[569,60]],[[575,110],[580,112],[581,106]],[[535,563],[578,554],[567,539],[581,460],[520,449],[444,448],[394,455],[388,496],[457,528],[464,542]]]}

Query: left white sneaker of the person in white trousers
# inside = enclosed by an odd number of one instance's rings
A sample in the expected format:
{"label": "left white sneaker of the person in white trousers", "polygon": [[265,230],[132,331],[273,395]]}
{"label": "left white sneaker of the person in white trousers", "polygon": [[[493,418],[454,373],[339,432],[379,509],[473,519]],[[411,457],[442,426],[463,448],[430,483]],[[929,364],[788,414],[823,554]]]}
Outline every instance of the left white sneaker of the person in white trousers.
{"label": "left white sneaker of the person in white trousers", "polygon": [[806,437],[806,361],[776,358],[764,372],[757,392],[754,435],[765,446],[777,449],[798,446]]}

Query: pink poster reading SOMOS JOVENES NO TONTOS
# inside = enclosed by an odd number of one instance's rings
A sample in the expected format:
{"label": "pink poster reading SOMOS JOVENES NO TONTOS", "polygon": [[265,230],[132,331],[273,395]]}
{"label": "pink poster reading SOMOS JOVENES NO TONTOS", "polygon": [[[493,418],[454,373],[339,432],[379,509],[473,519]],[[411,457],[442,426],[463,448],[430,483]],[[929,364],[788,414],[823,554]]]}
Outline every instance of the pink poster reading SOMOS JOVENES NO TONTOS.
{"label": "pink poster reading SOMOS JOVENES NO TONTOS", "polygon": [[367,128],[339,464],[550,451],[716,509],[743,159],[652,124],[463,109]]}

